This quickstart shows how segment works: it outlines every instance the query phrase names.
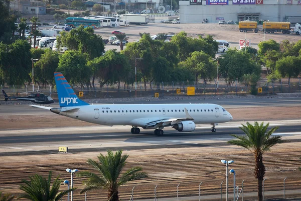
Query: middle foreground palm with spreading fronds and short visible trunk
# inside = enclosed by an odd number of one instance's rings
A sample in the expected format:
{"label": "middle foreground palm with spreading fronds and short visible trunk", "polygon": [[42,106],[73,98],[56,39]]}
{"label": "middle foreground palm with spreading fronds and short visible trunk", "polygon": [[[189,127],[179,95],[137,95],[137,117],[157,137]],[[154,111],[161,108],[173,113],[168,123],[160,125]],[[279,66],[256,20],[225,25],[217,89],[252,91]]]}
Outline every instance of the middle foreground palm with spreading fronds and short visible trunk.
{"label": "middle foreground palm with spreading fronds and short visible trunk", "polygon": [[104,188],[108,191],[109,201],[119,201],[119,186],[126,184],[128,181],[147,177],[147,173],[141,172],[141,167],[132,167],[121,174],[128,157],[128,155],[121,156],[121,154],[121,150],[116,151],[115,154],[112,151],[107,151],[107,156],[102,154],[97,156],[98,161],[88,159],[87,163],[92,165],[99,172],[99,175],[89,171],[79,172],[77,176],[87,178],[83,182],[85,188],[80,193]]}

